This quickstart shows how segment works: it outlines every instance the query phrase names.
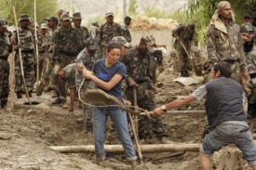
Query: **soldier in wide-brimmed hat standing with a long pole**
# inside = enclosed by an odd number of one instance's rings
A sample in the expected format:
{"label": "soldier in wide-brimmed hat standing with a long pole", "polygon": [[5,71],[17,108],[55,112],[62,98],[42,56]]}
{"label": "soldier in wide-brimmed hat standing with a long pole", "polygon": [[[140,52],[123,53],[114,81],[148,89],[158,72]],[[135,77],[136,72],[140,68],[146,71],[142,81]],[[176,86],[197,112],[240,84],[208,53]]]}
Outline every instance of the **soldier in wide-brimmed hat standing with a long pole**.
{"label": "soldier in wide-brimmed hat standing with a long pole", "polygon": [[[29,28],[29,20],[29,15],[20,15],[20,27],[18,29],[20,33],[20,44],[15,46],[15,50],[18,51],[18,48],[20,48],[21,50],[25,84],[27,85],[29,97],[32,97],[32,91],[34,87],[34,44],[38,43],[38,40],[34,39],[34,30]],[[14,33],[14,39],[16,42],[18,42],[16,32]],[[15,54],[15,77],[15,92],[18,98],[22,98],[22,93],[24,92],[24,89],[22,85],[22,76],[20,71],[19,52],[16,52]]]}

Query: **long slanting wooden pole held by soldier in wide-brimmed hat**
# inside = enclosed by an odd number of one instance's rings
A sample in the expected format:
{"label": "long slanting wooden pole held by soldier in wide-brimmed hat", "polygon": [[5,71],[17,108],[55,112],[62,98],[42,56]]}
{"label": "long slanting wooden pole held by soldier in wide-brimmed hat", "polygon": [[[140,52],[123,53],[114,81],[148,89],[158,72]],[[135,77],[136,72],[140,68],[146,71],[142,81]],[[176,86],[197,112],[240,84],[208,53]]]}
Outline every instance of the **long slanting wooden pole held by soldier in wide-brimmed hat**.
{"label": "long slanting wooden pole held by soldier in wide-brimmed hat", "polygon": [[[16,29],[17,29],[18,44],[20,44],[20,33],[19,33],[19,27],[18,27],[18,23],[17,23],[16,12],[15,12],[14,6],[12,7],[12,10],[13,10]],[[21,58],[21,49],[20,49],[20,47],[19,47],[19,55],[20,55],[20,70],[21,70],[22,80],[23,80],[23,84],[24,84],[24,87],[25,87],[27,98],[29,100],[29,103],[31,104],[31,100],[30,100],[29,93],[28,93],[28,88],[27,88],[26,81],[25,81],[25,78],[24,78],[23,63],[22,63],[22,58]]]}

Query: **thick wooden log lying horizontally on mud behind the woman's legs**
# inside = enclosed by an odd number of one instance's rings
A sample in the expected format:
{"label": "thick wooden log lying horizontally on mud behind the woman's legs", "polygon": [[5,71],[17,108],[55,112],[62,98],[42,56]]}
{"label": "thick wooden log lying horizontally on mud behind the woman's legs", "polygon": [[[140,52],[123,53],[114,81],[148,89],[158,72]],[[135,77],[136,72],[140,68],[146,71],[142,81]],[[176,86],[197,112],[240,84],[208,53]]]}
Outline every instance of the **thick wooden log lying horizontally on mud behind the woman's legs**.
{"label": "thick wooden log lying horizontally on mud behind the woman's legs", "polygon": [[[141,151],[144,153],[151,152],[170,152],[170,151],[199,151],[199,143],[174,143],[174,144],[151,144],[141,145]],[[79,146],[50,146],[51,150],[59,151],[61,153],[81,153],[81,152],[95,152],[94,145],[79,145]],[[124,152],[122,145],[104,145],[106,152]]]}

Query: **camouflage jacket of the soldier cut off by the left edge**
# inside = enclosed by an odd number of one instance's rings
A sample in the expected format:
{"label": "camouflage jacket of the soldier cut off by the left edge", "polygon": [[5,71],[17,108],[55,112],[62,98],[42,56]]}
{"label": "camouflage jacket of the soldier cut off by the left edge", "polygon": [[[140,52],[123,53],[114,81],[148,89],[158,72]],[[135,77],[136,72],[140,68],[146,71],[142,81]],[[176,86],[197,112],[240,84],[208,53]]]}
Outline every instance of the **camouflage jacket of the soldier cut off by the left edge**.
{"label": "camouflage jacket of the soldier cut off by the left edge", "polygon": [[8,57],[11,52],[11,46],[7,33],[0,33],[0,58]]}

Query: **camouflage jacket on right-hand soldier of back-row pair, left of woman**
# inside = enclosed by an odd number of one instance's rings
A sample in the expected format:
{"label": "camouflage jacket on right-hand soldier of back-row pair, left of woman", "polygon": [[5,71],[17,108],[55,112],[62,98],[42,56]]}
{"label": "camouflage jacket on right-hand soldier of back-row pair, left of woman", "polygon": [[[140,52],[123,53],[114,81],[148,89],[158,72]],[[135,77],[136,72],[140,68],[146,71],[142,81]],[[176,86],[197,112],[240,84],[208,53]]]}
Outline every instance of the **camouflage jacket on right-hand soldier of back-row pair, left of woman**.
{"label": "camouflage jacket on right-hand soldier of back-row pair, left of woman", "polygon": [[79,53],[87,45],[87,39],[89,37],[88,28],[81,26],[80,29],[74,28],[74,31],[75,31],[76,36],[77,36],[77,48],[78,48],[77,52]]}

